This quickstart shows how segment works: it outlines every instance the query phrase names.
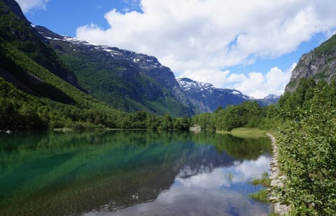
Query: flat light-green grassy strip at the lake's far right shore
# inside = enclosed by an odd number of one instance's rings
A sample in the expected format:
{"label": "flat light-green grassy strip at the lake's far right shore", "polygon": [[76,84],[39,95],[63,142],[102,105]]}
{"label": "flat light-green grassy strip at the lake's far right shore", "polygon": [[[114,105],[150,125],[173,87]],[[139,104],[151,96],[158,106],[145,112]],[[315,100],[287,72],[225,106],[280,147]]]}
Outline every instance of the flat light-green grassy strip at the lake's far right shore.
{"label": "flat light-green grassy strip at the lake's far right shore", "polygon": [[219,130],[216,133],[220,134],[230,134],[234,137],[241,137],[241,138],[250,138],[250,139],[258,139],[260,137],[267,137],[266,130],[260,130],[258,128],[235,128],[231,131],[223,131]]}

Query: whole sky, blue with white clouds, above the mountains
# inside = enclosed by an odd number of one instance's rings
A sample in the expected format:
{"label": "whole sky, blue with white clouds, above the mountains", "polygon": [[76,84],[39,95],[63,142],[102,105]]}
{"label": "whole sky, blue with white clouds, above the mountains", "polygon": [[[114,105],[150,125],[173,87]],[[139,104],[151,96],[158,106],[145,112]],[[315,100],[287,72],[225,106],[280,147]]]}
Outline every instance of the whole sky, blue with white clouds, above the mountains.
{"label": "whole sky, blue with white clouds, above the mountains", "polygon": [[335,0],[17,1],[33,25],[256,98],[281,95],[302,54],[336,33]]}

